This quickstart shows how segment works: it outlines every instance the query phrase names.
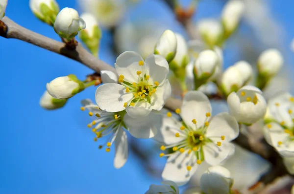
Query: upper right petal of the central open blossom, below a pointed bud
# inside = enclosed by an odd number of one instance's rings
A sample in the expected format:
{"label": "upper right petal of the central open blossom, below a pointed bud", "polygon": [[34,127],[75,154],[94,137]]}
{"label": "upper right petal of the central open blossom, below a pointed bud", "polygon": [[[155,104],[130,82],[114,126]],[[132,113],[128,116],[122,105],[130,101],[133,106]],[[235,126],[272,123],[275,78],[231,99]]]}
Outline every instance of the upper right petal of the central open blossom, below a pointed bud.
{"label": "upper right petal of the central open blossom, below a pointed bud", "polygon": [[161,55],[149,55],[146,60],[146,65],[149,67],[150,80],[161,84],[169,73],[169,64]]}

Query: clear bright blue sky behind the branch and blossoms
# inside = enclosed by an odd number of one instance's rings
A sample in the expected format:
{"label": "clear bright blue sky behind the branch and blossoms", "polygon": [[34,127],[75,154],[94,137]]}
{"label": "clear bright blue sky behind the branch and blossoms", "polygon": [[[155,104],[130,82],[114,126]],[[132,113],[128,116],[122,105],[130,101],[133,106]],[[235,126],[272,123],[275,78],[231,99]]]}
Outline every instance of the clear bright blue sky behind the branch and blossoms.
{"label": "clear bright blue sky behind the branch and blossoms", "polygon": [[[8,1],[8,17],[30,30],[59,40],[50,26],[33,16],[28,0]],[[215,1],[207,1],[201,7],[212,6],[208,12],[217,16],[213,13],[220,10],[221,3],[214,5]],[[77,8],[73,0],[58,0],[58,3],[61,8]],[[294,38],[294,1],[271,0],[270,5],[274,16],[287,30],[283,44],[289,45]],[[169,13],[167,10],[155,12],[153,9],[149,14],[168,17]],[[204,17],[208,13],[199,11],[199,15]],[[115,58],[109,52],[109,43],[109,36],[103,35],[100,57],[113,64]],[[46,111],[39,106],[47,82],[68,74],[83,79],[92,70],[18,40],[0,37],[0,45],[0,194],[143,194],[149,184],[160,181],[148,176],[132,154],[126,165],[116,170],[113,151],[98,150],[92,132],[86,127],[91,119],[79,109],[80,100],[94,100],[95,87],[77,94],[60,110]],[[287,63],[292,66],[289,46],[285,51]],[[148,146],[149,141],[145,142]]]}

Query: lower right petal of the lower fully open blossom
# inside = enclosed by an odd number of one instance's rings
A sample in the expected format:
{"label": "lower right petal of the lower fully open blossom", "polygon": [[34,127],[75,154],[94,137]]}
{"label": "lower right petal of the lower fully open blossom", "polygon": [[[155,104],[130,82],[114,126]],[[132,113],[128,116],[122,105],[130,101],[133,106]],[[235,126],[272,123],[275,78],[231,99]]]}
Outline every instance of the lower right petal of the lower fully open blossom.
{"label": "lower right petal of the lower fully open blossom", "polygon": [[212,165],[220,164],[232,151],[235,146],[231,143],[223,141],[221,146],[216,146],[214,143],[207,143],[203,146],[205,161]]}

